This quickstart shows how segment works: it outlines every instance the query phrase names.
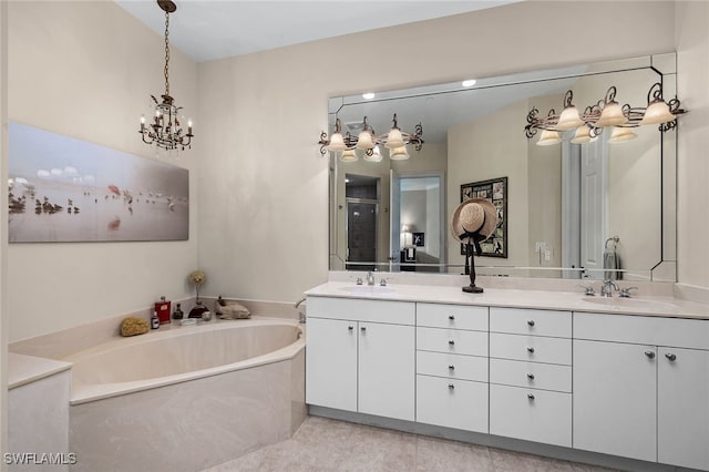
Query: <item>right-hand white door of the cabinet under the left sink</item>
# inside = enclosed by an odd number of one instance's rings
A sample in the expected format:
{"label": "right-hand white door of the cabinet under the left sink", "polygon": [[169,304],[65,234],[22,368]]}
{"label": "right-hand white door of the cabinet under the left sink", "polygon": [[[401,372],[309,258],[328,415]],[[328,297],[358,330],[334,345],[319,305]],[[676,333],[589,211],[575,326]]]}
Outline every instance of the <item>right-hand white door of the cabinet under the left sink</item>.
{"label": "right-hand white door of the cabinet under the left sink", "polygon": [[413,326],[359,324],[360,413],[413,421],[414,342]]}

